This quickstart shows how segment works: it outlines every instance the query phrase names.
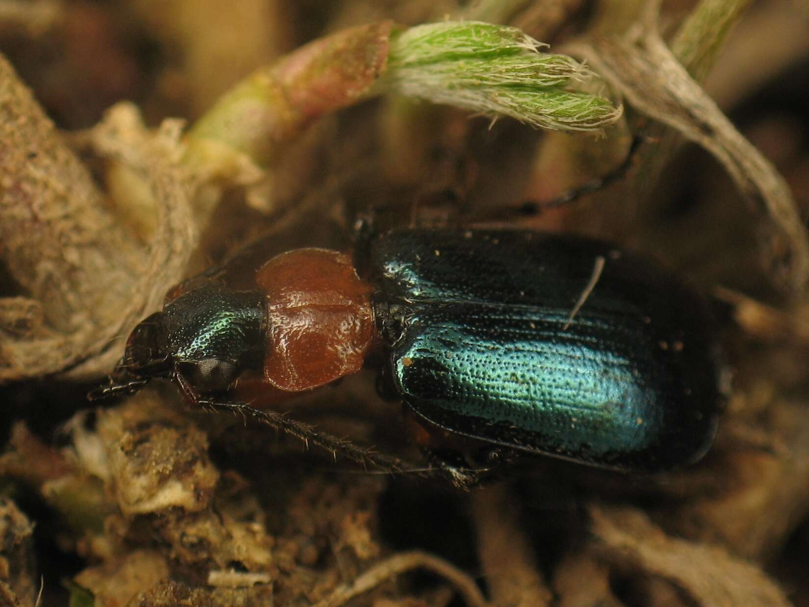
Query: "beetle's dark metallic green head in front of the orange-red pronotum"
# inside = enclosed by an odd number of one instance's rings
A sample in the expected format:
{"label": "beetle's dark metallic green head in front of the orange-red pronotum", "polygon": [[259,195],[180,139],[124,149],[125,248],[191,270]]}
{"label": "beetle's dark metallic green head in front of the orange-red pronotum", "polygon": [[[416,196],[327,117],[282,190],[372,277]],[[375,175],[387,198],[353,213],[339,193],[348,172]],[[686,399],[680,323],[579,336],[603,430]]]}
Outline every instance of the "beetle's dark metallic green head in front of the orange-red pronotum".
{"label": "beetle's dark metallic green head in front of the orange-red pronotum", "polygon": [[210,282],[183,293],[133,329],[112,384],[95,397],[133,393],[159,377],[176,378],[197,395],[223,392],[243,371],[260,370],[266,322],[257,291]]}

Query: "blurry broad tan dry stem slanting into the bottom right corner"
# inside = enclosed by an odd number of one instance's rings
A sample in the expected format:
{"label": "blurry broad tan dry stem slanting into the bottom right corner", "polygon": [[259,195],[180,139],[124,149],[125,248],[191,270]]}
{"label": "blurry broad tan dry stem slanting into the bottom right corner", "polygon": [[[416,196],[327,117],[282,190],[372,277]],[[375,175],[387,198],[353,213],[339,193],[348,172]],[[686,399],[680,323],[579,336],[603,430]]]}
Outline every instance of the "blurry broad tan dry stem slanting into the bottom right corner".
{"label": "blurry broad tan dry stem slanting into the bottom right corner", "polygon": [[669,580],[699,605],[790,605],[758,567],[719,547],[667,537],[642,511],[592,507],[591,516],[592,533],[608,558]]}

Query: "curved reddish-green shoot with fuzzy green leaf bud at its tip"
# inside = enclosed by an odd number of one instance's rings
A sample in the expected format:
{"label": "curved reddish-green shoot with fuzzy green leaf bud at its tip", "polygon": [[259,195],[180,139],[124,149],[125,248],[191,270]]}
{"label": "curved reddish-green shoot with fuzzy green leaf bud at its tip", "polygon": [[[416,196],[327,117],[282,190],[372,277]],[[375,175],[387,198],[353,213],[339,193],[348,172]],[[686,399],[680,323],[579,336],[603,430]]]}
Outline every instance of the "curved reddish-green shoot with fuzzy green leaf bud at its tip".
{"label": "curved reddish-green shoot with fuzzy green leaf bud at its tip", "polygon": [[203,179],[227,176],[245,159],[270,168],[318,117],[388,92],[554,129],[600,129],[621,116],[609,100],[581,90],[589,70],[539,53],[540,46],[517,28],[470,21],[338,32],[222,96],[188,132],[186,164]]}

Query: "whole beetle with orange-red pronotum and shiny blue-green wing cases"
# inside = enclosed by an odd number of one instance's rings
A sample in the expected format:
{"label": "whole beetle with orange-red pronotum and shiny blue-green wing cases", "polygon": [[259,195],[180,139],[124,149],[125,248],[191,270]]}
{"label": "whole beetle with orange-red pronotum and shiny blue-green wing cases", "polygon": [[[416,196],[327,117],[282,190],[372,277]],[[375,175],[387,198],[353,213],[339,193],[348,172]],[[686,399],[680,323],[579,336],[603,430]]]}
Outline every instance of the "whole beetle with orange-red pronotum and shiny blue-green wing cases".
{"label": "whole beetle with orange-red pronotum and shiny blue-green wing cases", "polygon": [[697,461],[714,439],[722,365],[705,303],[612,244],[403,228],[366,236],[354,257],[299,248],[262,260],[246,284],[227,275],[170,291],[100,394],[170,378],[193,405],[396,468],[246,396],[284,401],[373,361],[417,443],[459,485],[520,453],[657,472]]}

